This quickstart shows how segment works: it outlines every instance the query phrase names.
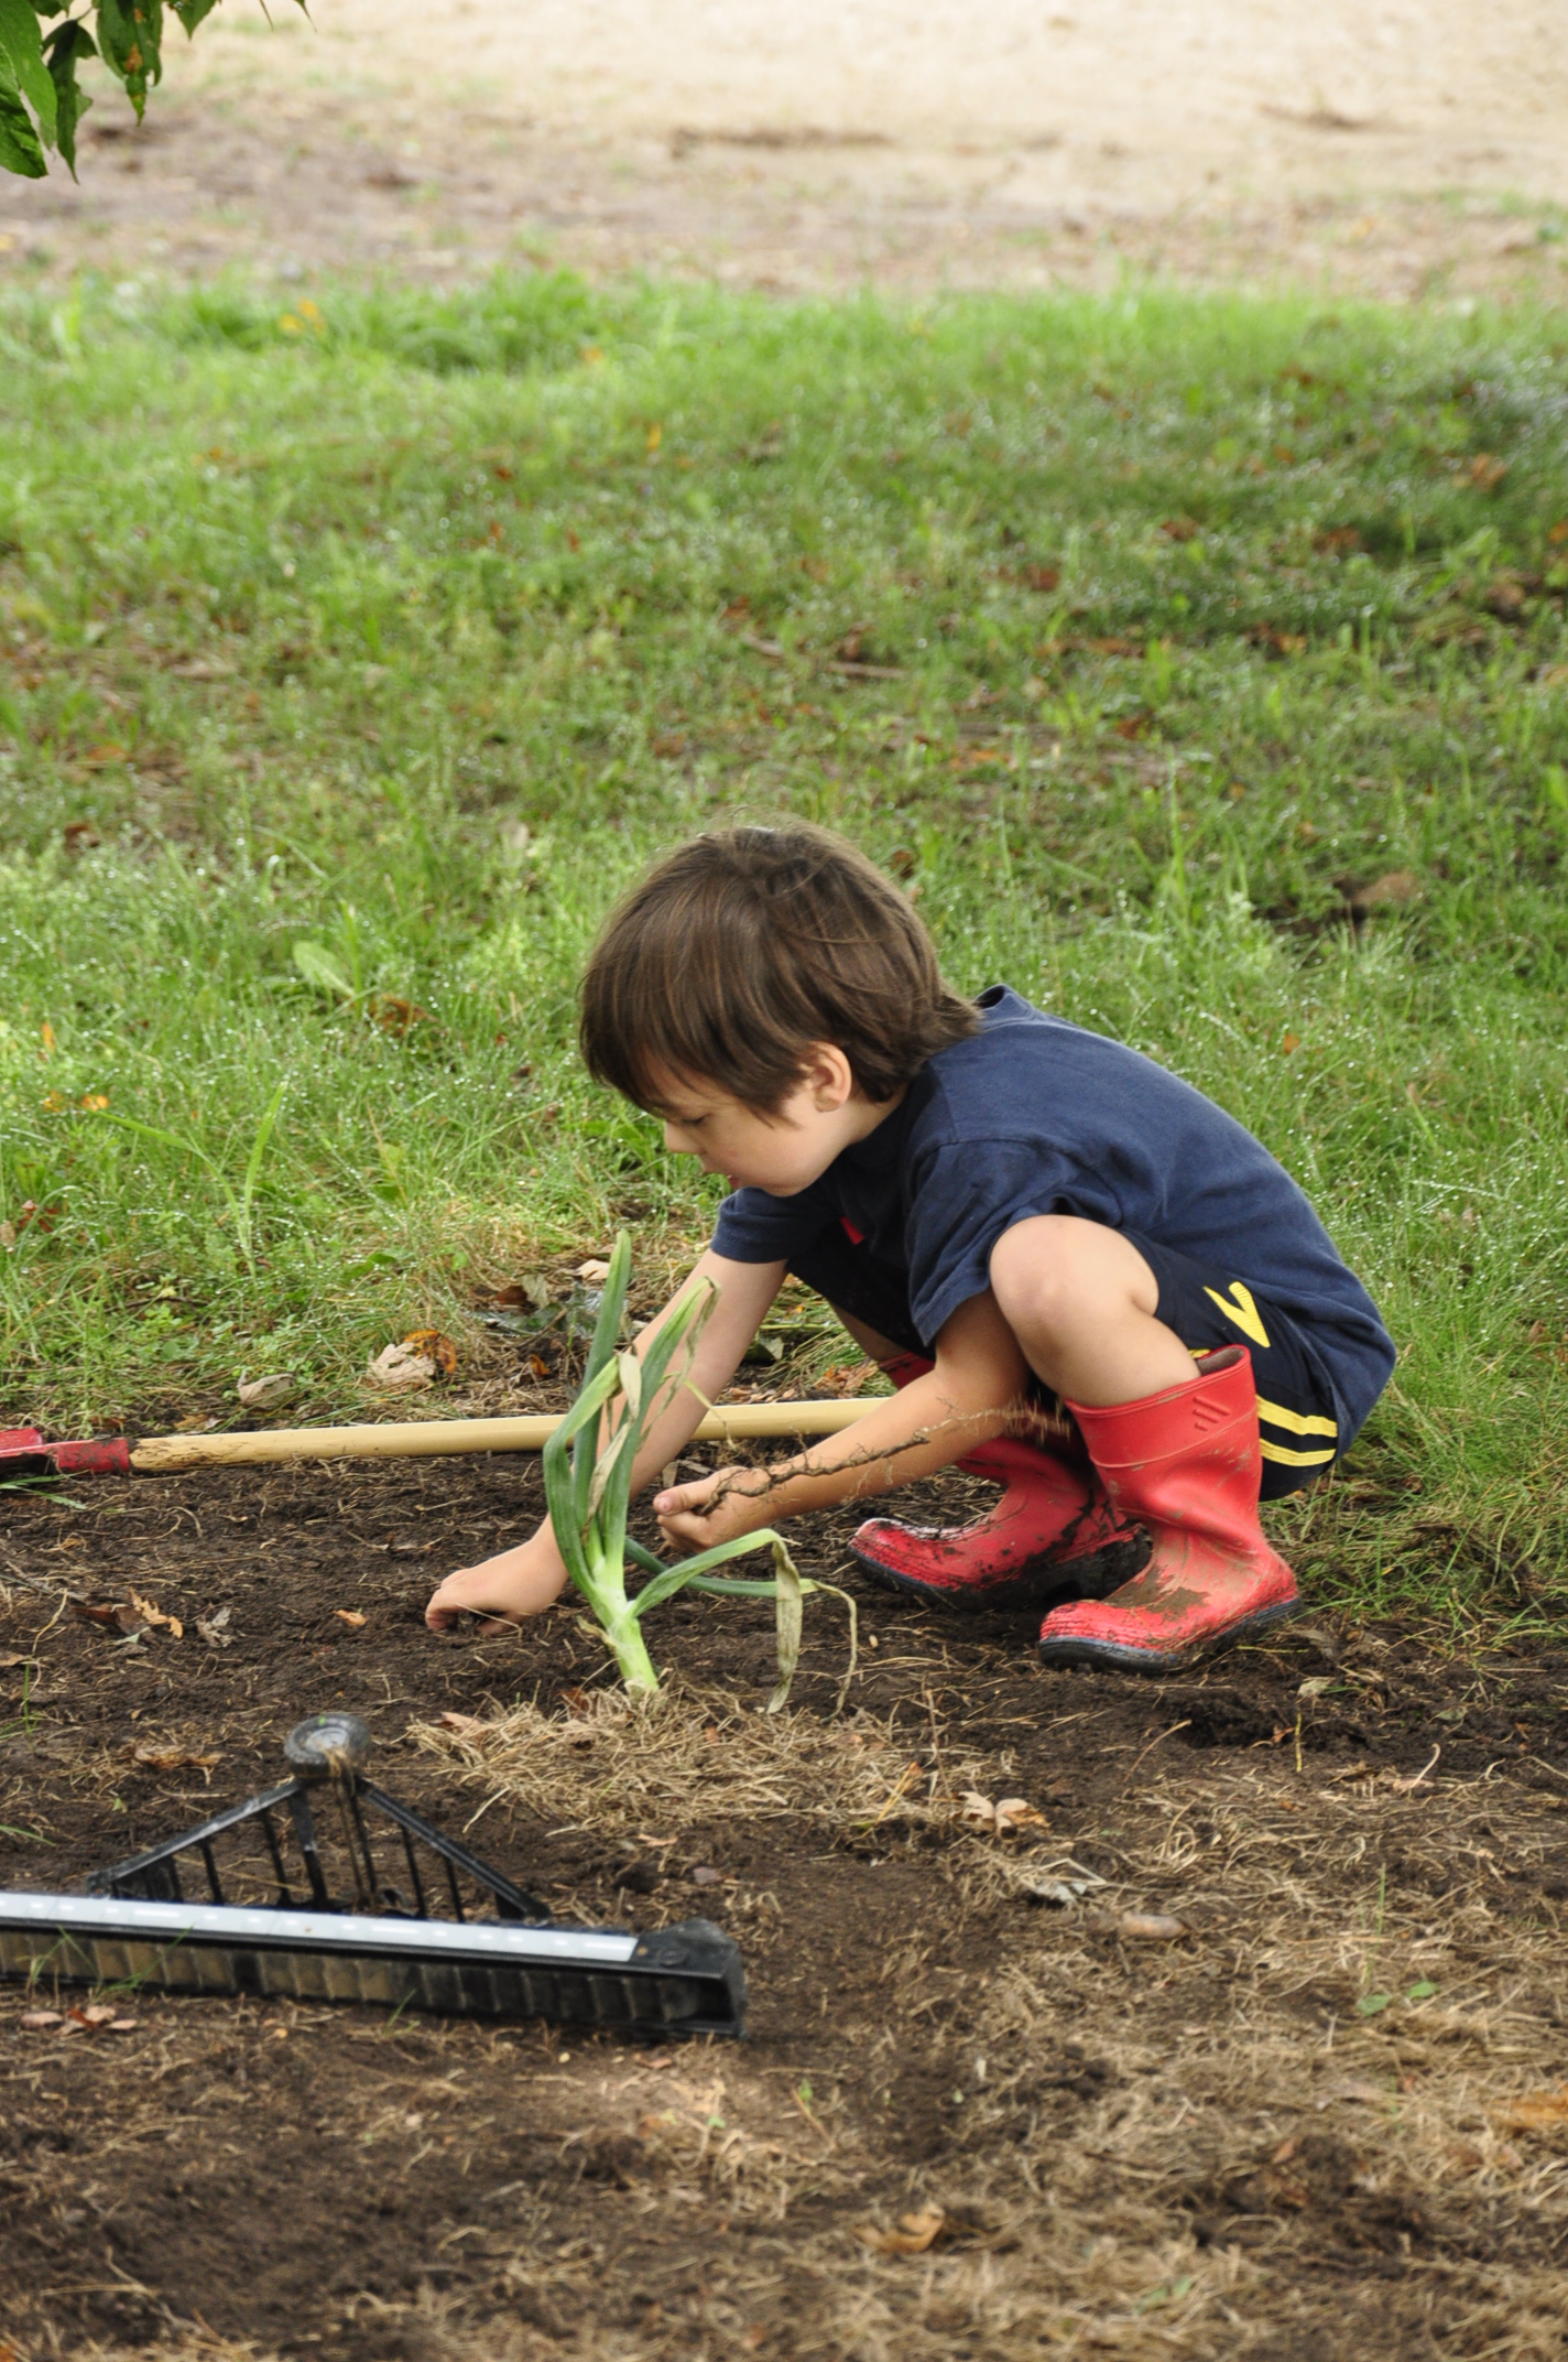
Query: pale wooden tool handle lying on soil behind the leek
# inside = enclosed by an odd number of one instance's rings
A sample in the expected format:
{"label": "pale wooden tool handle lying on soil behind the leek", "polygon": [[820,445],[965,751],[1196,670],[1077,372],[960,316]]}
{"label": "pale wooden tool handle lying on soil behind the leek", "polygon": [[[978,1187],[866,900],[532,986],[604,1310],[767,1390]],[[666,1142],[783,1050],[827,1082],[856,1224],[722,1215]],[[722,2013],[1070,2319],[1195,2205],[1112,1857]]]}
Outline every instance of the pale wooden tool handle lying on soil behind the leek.
{"label": "pale wooden tool handle lying on soil behind the leek", "polygon": [[[732,1403],[711,1410],[697,1443],[758,1436],[831,1436],[864,1420],[881,1396],[855,1403]],[[172,1469],[255,1467],[267,1460],[427,1460],[453,1453],[541,1453],[560,1420],[401,1420],[385,1427],[262,1427],[239,1436],[149,1436],[132,1443],[144,1476]]]}

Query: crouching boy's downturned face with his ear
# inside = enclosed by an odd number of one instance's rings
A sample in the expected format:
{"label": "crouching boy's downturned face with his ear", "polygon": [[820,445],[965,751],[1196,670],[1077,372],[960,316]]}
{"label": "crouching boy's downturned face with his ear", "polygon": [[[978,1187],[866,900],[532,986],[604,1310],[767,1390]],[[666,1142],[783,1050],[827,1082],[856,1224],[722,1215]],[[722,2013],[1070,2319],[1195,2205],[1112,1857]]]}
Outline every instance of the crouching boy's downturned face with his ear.
{"label": "crouching boy's downturned face with his ear", "polygon": [[701,1157],[701,1169],[723,1174],[730,1188],[796,1198],[850,1141],[874,1131],[888,1108],[855,1091],[841,1049],[817,1044],[805,1075],[772,1115],[758,1115],[713,1082],[675,1075],[661,1077],[656,1113],[671,1155]]}

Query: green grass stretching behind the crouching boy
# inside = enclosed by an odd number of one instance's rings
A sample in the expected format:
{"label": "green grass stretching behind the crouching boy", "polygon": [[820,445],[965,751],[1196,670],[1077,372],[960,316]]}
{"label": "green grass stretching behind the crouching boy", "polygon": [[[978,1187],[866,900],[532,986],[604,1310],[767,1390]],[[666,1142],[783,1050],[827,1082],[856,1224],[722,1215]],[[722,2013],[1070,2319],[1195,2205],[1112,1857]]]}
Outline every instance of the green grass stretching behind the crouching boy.
{"label": "green grass stretching behind the crouching boy", "polygon": [[1403,1358],[1304,1561],[1561,1599],[1566,352],[1164,293],[12,298],[9,1415],[276,1368],[342,1412],[413,1325],[477,1353],[477,1278],[621,1219],[666,1273],[713,1186],[583,1082],[574,976],[654,848],[793,810],[1313,1193]]}

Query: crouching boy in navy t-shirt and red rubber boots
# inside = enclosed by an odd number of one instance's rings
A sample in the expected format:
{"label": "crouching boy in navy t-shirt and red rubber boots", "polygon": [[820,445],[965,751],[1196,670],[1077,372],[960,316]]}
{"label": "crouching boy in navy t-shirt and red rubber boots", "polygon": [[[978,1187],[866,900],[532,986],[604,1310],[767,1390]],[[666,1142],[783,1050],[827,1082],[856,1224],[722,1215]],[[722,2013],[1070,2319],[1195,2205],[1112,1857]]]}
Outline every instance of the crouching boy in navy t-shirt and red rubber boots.
{"label": "crouching boy in navy t-shirt and red rubber boots", "polygon": [[[779,1467],[661,1490],[671,1542],[956,1462],[1004,1483],[987,1516],[874,1519],[855,1557],[947,1606],[1044,1609],[1051,1663],[1169,1672],[1296,1609],[1259,1495],[1346,1450],[1393,1346],[1221,1108],[1006,985],[959,999],[904,895],[801,824],[659,862],[588,961],[581,1051],[732,1186],[692,1273],[718,1301],[635,1486],[680,1455],[789,1273],[897,1389]],[[564,1580],[545,1521],[449,1575],[427,1623],[531,1616]]]}

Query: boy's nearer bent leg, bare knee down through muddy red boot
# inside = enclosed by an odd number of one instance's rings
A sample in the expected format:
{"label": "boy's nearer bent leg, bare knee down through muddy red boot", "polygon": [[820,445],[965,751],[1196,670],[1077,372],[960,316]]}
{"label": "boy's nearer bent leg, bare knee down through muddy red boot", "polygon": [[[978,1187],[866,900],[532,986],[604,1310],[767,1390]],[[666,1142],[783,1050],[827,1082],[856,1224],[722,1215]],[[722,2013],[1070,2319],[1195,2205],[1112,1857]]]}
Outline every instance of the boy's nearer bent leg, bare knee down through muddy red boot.
{"label": "boy's nearer bent leg, bare knee down through muddy red boot", "polygon": [[[1046,1660],[1169,1672],[1289,1616],[1296,1580],[1256,1514],[1263,1460],[1249,1353],[1226,1346],[1195,1361],[1157,1318],[1159,1278],[1138,1245],[1074,1216],[1008,1231],[992,1254],[992,1287],[1030,1368],[1072,1410],[1112,1505],[1152,1542],[1145,1571],[1110,1599],[1046,1616]],[[1252,1320],[1268,1349],[1244,1290],[1235,1309],[1219,1290],[1200,1292],[1237,1327]],[[1301,1424],[1332,1434],[1329,1420]]]}

